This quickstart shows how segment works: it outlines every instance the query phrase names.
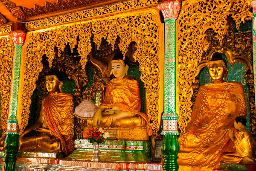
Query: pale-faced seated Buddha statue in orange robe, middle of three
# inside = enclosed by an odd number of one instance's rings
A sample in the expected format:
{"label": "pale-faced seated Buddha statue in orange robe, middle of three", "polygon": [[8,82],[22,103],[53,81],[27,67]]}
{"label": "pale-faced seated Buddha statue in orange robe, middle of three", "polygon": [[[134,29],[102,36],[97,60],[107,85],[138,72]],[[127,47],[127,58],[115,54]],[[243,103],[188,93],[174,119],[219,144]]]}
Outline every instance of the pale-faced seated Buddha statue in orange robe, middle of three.
{"label": "pale-faced seated Buddha statue in orange robe, middle of three", "polygon": [[[141,99],[139,83],[128,76],[128,65],[122,53],[116,53],[111,61],[113,78],[108,82],[104,101],[96,110],[88,126],[135,128],[146,126],[148,135],[152,134],[148,116],[140,112]],[[92,122],[92,123],[91,123]]]}

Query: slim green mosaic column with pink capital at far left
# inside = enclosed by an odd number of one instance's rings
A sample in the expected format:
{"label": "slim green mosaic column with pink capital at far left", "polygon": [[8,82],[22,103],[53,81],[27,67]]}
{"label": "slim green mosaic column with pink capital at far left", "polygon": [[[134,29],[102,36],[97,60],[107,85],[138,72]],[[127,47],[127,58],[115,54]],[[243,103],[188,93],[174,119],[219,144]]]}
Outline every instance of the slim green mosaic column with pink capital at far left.
{"label": "slim green mosaic column with pink capital at far left", "polygon": [[9,116],[7,119],[7,130],[5,139],[5,156],[3,158],[3,171],[14,171],[19,148],[19,127],[17,122],[17,99],[20,78],[20,58],[21,46],[25,41],[26,34],[21,31],[10,32],[15,46],[13,70],[12,70],[12,87]]}

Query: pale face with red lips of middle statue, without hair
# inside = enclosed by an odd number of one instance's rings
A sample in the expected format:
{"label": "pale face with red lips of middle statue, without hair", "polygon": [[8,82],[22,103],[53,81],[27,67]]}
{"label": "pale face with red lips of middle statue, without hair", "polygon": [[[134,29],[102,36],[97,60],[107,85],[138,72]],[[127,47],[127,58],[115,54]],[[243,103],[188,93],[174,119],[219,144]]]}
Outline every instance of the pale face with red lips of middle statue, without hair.
{"label": "pale face with red lips of middle statue, without hair", "polygon": [[111,61],[111,69],[116,78],[123,78],[128,71],[128,65],[125,65],[122,60],[113,60]]}

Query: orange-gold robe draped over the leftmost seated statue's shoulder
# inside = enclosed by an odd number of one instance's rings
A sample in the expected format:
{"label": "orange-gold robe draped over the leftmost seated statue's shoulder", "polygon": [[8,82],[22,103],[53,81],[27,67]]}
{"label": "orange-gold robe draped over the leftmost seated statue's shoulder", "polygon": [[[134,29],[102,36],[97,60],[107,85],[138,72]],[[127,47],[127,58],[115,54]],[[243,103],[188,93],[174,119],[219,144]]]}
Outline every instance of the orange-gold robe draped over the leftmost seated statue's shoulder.
{"label": "orange-gold robe draped over the leftmost seated statue's shoulder", "polygon": [[44,113],[52,134],[61,142],[68,156],[74,151],[73,96],[68,93],[49,94],[44,101]]}

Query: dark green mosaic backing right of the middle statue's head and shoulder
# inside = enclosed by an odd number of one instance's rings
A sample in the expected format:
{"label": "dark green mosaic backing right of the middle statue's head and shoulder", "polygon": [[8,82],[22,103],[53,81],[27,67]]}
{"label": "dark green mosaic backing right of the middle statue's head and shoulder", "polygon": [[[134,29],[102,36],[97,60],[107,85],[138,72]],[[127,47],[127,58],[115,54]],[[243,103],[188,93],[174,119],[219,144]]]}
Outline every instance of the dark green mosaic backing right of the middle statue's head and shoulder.
{"label": "dark green mosaic backing right of the middle statue's head and shoulder", "polygon": [[145,113],[145,87],[144,83],[140,80],[140,66],[137,65],[131,65],[128,63],[129,69],[128,69],[128,75],[132,77],[136,77],[140,84],[140,99],[141,99],[141,112]]}

